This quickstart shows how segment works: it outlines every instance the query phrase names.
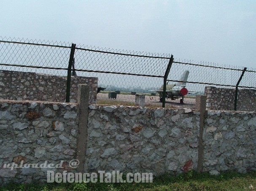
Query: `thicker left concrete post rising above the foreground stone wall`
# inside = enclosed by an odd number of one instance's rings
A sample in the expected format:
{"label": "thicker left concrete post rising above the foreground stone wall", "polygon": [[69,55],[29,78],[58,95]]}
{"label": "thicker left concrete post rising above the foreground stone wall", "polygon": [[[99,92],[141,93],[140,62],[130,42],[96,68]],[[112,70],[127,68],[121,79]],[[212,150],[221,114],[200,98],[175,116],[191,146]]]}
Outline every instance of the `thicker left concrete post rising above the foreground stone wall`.
{"label": "thicker left concrete post rising above the foreground stone wall", "polygon": [[78,137],[77,137],[77,159],[79,161],[77,172],[84,172],[87,144],[87,126],[89,112],[89,85],[78,85],[77,101],[78,109]]}

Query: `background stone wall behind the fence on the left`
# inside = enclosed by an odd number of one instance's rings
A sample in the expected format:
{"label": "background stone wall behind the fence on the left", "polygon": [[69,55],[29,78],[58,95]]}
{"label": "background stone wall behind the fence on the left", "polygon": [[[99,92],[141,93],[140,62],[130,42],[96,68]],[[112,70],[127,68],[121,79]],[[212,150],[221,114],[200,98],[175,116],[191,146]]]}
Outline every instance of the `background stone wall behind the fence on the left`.
{"label": "background stone wall behind the fence on the left", "polygon": [[[78,84],[89,85],[89,102],[96,103],[98,78],[71,77],[70,102],[77,100]],[[65,102],[66,76],[0,70],[0,99]]]}

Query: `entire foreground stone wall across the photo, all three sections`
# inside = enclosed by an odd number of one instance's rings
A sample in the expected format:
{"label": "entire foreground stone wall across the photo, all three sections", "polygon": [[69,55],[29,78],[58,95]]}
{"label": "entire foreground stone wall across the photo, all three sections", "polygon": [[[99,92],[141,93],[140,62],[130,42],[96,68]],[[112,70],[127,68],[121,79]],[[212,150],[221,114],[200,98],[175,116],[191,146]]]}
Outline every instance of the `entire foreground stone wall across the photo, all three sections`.
{"label": "entire foreground stone wall across the photo, all three sections", "polygon": [[[81,108],[89,108],[88,120]],[[74,171],[69,162],[78,155],[83,172],[175,175],[198,170],[199,161],[211,174],[256,170],[256,112],[207,111],[202,134],[200,117],[191,109],[0,100],[0,183],[43,181],[46,170]],[[45,160],[63,168],[3,167]]]}

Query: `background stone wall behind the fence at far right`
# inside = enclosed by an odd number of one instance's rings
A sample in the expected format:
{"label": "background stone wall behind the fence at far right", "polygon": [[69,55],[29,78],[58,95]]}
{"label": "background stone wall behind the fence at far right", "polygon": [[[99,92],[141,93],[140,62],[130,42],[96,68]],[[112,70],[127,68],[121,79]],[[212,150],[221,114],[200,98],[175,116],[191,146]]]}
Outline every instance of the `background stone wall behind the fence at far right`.
{"label": "background stone wall behind the fence at far right", "polygon": [[[235,89],[205,87],[206,108],[209,110],[234,110]],[[238,89],[238,111],[256,111],[256,90]]]}

